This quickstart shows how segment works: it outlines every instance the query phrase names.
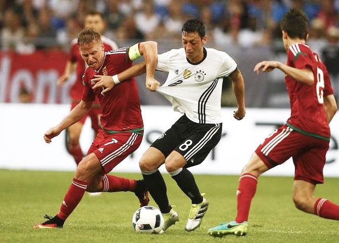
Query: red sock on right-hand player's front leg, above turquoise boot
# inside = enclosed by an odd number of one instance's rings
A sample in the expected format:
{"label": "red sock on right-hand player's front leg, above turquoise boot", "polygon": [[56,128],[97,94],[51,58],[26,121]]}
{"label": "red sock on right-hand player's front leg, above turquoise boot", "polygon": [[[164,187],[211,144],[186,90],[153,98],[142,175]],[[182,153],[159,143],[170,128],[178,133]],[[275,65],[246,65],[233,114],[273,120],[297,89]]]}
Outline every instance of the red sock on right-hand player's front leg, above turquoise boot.
{"label": "red sock on right-hand player's front leg, above turquoise boot", "polygon": [[249,173],[245,173],[239,178],[239,187],[237,190],[237,216],[235,221],[242,223],[248,220],[251,200],[256,194],[258,178]]}

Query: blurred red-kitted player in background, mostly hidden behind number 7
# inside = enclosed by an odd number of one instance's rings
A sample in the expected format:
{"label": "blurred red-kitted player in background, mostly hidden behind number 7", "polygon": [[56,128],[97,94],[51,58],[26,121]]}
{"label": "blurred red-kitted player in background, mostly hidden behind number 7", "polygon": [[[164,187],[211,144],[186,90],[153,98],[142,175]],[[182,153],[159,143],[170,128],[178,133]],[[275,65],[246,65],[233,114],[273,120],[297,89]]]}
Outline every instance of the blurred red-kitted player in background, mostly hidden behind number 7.
{"label": "blurred red-kitted player in background, mostly hidden behind number 7", "polygon": [[[102,33],[105,29],[105,21],[103,15],[97,11],[88,12],[84,18],[84,27],[93,28],[96,32]],[[102,42],[105,47],[105,52],[117,49],[115,42],[111,41],[105,36],[101,36]],[[64,74],[58,79],[58,85],[62,86],[64,82],[69,78],[70,74],[76,70],[76,80],[70,89],[70,97],[72,99],[71,110],[80,102],[82,97],[82,75],[86,63],[83,61],[78,49],[77,39],[73,39],[71,43],[70,58],[66,63]],[[79,137],[82,130],[82,126],[89,116],[92,121],[92,128],[95,133],[99,129],[99,118],[102,110],[99,101],[96,99],[93,103],[92,109],[87,115],[84,115],[77,123],[70,126],[68,131],[68,152],[74,157],[75,163],[78,165],[83,157],[83,153],[79,144]]]}

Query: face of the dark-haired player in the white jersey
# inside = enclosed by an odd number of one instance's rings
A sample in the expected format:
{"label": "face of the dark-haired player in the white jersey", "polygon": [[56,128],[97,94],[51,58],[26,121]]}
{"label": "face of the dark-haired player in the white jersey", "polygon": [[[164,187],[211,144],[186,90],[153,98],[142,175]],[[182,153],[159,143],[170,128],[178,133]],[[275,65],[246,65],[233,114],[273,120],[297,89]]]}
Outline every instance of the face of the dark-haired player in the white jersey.
{"label": "face of the dark-haired player in the white jersey", "polygon": [[206,43],[206,39],[206,36],[201,38],[198,32],[183,31],[182,43],[186,57],[190,61],[199,62],[203,58],[203,45]]}

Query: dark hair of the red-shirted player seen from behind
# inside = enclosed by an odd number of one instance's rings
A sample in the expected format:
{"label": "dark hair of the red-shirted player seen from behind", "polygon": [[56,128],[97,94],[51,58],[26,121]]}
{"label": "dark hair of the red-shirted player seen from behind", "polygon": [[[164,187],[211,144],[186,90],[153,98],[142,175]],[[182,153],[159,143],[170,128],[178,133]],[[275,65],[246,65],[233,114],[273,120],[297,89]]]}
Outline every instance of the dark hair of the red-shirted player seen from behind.
{"label": "dark hair of the red-shirted player seen from behind", "polygon": [[291,38],[307,38],[309,21],[306,14],[298,9],[290,9],[281,20],[281,30]]}

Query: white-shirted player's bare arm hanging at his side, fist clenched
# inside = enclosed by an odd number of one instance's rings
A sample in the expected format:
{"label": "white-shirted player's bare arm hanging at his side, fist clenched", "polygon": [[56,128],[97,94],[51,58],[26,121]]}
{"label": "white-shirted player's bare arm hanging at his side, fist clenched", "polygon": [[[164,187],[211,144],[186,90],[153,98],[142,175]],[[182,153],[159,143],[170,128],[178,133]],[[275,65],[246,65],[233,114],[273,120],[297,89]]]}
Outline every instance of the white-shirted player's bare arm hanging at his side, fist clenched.
{"label": "white-shirted player's bare arm hanging at his side, fist clenched", "polygon": [[244,79],[238,68],[236,68],[228,77],[232,80],[232,88],[238,104],[238,108],[234,111],[233,116],[237,120],[241,120],[246,113]]}

